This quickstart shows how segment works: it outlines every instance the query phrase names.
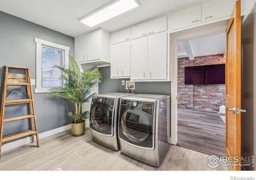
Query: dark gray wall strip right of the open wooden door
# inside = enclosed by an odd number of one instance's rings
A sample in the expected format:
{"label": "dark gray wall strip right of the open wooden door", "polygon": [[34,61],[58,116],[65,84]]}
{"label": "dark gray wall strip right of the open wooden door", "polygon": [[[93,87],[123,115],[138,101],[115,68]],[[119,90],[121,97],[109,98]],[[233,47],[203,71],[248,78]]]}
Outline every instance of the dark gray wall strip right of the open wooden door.
{"label": "dark gray wall strip right of the open wooden door", "polygon": [[[242,79],[241,79],[241,154],[243,157],[254,155],[254,13],[246,14],[241,31],[242,42]],[[251,166],[244,166],[253,170]]]}

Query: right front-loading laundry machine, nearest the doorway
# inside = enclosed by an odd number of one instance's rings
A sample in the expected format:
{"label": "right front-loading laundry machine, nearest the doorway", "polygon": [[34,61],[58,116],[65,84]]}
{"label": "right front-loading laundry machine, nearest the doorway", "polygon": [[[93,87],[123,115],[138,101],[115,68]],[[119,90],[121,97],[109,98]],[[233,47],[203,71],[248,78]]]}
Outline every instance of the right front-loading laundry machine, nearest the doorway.
{"label": "right front-loading laundry machine, nearest the doorway", "polygon": [[168,152],[170,96],[134,94],[120,100],[118,136],[122,153],[160,166]]}

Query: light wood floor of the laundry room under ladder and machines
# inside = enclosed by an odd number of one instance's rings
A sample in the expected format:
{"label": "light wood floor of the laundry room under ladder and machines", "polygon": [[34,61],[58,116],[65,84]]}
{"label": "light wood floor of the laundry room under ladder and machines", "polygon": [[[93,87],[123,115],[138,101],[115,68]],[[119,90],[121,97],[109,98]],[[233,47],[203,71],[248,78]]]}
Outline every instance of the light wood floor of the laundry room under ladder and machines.
{"label": "light wood floor of the laundry room under ladder and machines", "polygon": [[158,168],[92,141],[90,129],[80,137],[70,130],[2,153],[0,170],[227,170],[210,168],[207,154],[170,145]]}

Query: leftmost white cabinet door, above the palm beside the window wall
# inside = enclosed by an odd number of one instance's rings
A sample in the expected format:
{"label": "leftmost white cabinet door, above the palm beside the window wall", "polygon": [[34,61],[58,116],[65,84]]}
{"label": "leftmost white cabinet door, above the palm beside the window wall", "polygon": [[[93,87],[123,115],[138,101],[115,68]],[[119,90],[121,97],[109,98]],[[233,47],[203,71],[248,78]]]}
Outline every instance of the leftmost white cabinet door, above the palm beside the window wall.
{"label": "leftmost white cabinet door, above the palm beside the window wall", "polygon": [[76,62],[86,60],[86,36],[75,39],[75,59]]}

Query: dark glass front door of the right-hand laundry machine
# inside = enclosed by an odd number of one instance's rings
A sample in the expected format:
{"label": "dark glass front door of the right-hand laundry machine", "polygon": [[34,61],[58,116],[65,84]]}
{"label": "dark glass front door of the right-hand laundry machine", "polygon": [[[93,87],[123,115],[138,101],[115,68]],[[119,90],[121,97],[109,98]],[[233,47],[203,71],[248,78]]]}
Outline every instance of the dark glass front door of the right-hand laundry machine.
{"label": "dark glass front door of the right-hand laundry machine", "polygon": [[154,149],[155,102],[121,100],[118,136],[140,148]]}

